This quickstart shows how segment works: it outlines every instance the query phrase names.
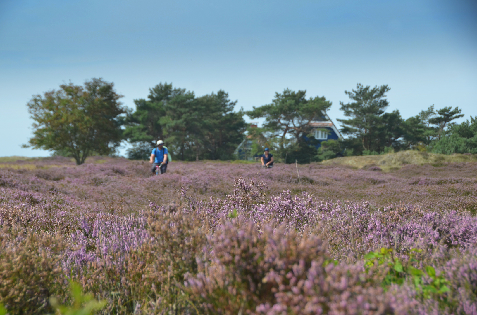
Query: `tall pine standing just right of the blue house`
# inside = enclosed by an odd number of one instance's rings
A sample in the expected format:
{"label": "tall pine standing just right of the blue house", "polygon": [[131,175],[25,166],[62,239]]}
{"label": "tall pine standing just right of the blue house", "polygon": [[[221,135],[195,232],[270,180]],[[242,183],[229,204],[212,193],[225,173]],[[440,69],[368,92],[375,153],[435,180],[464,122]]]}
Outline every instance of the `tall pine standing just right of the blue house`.
{"label": "tall pine standing just right of the blue house", "polygon": [[340,109],[344,111],[344,116],[351,118],[337,120],[342,123],[343,134],[360,139],[363,150],[379,151],[382,115],[389,105],[384,97],[390,89],[387,85],[371,88],[358,83],[355,90],[344,91],[353,102],[348,104],[340,102]]}

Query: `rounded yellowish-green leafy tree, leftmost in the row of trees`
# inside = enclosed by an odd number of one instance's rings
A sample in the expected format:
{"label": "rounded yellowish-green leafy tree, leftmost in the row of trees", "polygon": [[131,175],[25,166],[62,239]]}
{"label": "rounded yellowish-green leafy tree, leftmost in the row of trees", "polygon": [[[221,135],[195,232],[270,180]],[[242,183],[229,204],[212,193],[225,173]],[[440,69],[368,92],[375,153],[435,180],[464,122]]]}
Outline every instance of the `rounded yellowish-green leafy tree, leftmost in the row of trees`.
{"label": "rounded yellowish-green leafy tree, leftmost in the row of trees", "polygon": [[33,137],[25,147],[74,157],[76,165],[92,154],[115,152],[123,139],[119,115],[125,110],[114,83],[93,78],[84,86],[69,83],[60,88],[35,95],[28,102],[35,123]]}

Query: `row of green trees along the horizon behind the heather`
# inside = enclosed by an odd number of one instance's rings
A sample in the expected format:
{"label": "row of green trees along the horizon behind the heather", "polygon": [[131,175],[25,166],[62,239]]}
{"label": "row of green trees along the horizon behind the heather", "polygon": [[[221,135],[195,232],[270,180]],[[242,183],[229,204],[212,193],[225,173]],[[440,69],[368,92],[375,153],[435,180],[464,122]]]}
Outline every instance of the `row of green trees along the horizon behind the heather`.
{"label": "row of green trees along the horizon behind the heather", "polygon": [[[245,137],[252,140],[251,154],[274,150],[287,163],[321,161],[340,155],[373,155],[417,149],[436,153],[477,154],[477,117],[461,124],[458,107],[434,106],[404,119],[399,110],[386,112],[387,85],[363,86],[345,91],[350,102],[340,102],[346,119],[343,140],[319,141],[310,122],[325,117],[332,103],[324,96],[306,97],[306,90],[284,89],[270,104],[234,111],[237,101],[219,90],[197,97],[193,91],[159,83],[147,98],[135,99],[135,110],[119,101],[114,83],[103,79],[73,83],[34,95],[27,104],[33,137],[23,147],[42,148],[55,155],[73,157],[80,165],[91,155],[113,155],[126,140],[129,158],[145,159],[163,139],[175,159],[234,159]],[[244,115],[264,118],[261,128],[251,128]],[[325,129],[323,129],[325,130]]]}

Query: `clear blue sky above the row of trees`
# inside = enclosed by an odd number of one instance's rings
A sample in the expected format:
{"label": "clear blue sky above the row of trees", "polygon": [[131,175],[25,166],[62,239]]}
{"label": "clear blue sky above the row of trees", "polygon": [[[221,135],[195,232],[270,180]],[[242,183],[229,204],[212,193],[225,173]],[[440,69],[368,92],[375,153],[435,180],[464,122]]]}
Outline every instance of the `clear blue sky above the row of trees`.
{"label": "clear blue sky above the row of trees", "polygon": [[[26,103],[102,77],[145,98],[159,82],[223,89],[237,107],[306,89],[342,118],[344,90],[391,87],[404,118],[435,104],[477,115],[475,0],[0,0],[0,156],[48,156]],[[122,150],[124,152],[124,149]]]}

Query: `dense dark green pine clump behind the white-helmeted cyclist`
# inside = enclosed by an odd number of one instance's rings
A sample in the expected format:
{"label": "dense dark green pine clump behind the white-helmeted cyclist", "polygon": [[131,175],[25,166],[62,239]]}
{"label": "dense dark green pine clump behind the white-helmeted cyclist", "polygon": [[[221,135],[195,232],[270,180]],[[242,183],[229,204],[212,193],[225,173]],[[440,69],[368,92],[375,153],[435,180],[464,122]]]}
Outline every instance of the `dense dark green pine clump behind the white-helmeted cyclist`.
{"label": "dense dark green pine clump behind the white-helmeted cyclist", "polygon": [[234,112],[237,102],[223,90],[197,98],[194,92],[159,83],[149,89],[148,100],[135,100],[127,116],[125,136],[135,142],[128,151],[143,157],[152,140],[162,138],[180,160],[230,159],[243,139],[244,113]]}

